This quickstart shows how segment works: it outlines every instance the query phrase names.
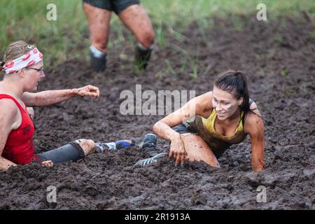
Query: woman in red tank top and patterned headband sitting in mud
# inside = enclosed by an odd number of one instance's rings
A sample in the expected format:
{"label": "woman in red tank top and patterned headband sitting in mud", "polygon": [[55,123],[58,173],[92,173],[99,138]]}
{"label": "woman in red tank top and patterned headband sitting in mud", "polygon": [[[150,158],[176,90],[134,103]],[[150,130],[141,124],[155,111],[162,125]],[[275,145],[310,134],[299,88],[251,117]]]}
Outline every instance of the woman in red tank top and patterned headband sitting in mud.
{"label": "woman in red tank top and patterned headband sitting in mud", "polygon": [[[79,139],[55,150],[35,154],[32,141],[34,125],[29,116],[32,110],[27,106],[47,106],[77,96],[99,97],[99,89],[92,85],[36,92],[38,82],[45,78],[42,58],[34,45],[16,41],[8,46],[3,57],[5,62],[0,62],[0,68],[5,73],[0,82],[0,170],[33,160],[50,167],[53,162],[78,160],[94,151],[102,152],[104,146],[110,149],[116,146]],[[122,141],[120,148],[133,144],[132,141]]]}

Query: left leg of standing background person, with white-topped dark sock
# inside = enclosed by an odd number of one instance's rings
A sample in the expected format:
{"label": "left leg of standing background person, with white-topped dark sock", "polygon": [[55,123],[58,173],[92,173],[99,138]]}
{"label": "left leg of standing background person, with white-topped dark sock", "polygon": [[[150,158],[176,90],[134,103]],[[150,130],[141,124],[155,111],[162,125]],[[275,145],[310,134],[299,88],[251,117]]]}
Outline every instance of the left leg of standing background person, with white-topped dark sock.
{"label": "left leg of standing background person, with white-topped dark sock", "polygon": [[111,11],[97,8],[89,3],[83,4],[83,10],[90,27],[92,69],[94,71],[104,71],[106,69],[106,46],[109,41]]}

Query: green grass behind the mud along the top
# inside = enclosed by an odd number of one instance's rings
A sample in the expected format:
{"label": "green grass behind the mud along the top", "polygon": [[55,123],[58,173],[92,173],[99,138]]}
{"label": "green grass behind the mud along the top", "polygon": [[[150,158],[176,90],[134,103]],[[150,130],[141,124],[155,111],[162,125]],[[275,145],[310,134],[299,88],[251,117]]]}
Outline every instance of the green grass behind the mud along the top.
{"label": "green grass behind the mud along the top", "polygon": [[[57,21],[46,19],[48,3],[55,3],[57,6]],[[239,15],[255,15],[258,12],[256,7],[261,1],[142,0],[141,3],[153,22],[156,42],[163,49],[167,47],[167,33],[181,41],[185,38],[182,35],[183,30],[192,22],[197,22],[200,34],[207,38],[203,30],[213,26],[209,18],[214,16],[230,18],[236,29],[241,29],[243,22],[239,20]],[[279,15],[297,15],[302,10],[306,10],[310,15],[315,13],[315,1],[265,0],[264,3],[267,6],[268,20]],[[50,63],[45,63],[48,66],[55,66],[69,57],[82,58],[82,55],[87,55],[87,46],[90,45],[82,7],[80,0],[1,0],[0,54],[4,54],[10,42],[24,40],[38,45],[45,54],[44,61]],[[125,27],[118,17],[113,15],[111,33],[116,34],[116,38],[110,39],[109,48],[132,44],[132,34],[128,32],[128,36],[124,36],[123,29]],[[188,63],[189,61],[188,59]],[[195,70],[193,69],[193,73]]]}

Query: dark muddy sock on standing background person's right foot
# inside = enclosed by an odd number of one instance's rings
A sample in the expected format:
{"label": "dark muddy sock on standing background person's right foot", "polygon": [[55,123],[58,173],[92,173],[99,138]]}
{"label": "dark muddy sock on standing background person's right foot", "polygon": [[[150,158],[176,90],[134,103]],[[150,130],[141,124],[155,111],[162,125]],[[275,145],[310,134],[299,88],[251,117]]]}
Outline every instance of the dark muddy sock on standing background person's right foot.
{"label": "dark muddy sock on standing background person's right foot", "polygon": [[154,44],[151,45],[149,48],[145,48],[144,45],[142,45],[141,43],[137,43],[134,58],[135,69],[137,69],[138,71],[146,69],[153,48]]}

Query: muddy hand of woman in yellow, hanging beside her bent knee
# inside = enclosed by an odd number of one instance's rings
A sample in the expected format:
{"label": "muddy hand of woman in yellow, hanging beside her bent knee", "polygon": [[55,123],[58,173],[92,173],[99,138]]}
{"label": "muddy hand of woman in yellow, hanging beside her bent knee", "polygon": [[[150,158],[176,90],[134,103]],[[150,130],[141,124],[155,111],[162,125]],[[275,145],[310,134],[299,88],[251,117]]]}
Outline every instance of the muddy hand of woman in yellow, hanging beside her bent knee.
{"label": "muddy hand of woman in yellow, hanging beside her bent knee", "polygon": [[171,141],[171,147],[169,149],[169,158],[174,158],[175,165],[178,166],[179,163],[183,165],[186,160],[186,150],[183,144],[183,139],[181,137],[177,137]]}

